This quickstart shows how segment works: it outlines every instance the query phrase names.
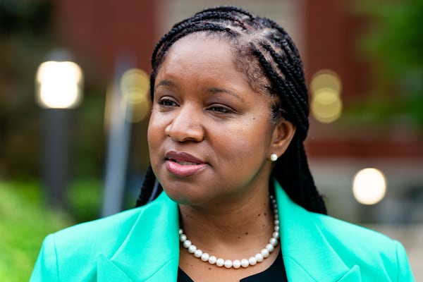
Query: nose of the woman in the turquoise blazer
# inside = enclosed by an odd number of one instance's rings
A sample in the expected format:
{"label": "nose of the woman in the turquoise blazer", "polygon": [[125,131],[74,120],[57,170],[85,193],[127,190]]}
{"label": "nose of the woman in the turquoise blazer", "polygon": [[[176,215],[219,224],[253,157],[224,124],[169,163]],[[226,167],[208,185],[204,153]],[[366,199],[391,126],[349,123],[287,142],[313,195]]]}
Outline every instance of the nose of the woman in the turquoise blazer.
{"label": "nose of the woman in the turquoise blazer", "polygon": [[165,128],[165,133],[176,142],[200,142],[204,138],[204,128],[198,119],[198,114],[191,106],[180,106],[175,112],[171,123]]}

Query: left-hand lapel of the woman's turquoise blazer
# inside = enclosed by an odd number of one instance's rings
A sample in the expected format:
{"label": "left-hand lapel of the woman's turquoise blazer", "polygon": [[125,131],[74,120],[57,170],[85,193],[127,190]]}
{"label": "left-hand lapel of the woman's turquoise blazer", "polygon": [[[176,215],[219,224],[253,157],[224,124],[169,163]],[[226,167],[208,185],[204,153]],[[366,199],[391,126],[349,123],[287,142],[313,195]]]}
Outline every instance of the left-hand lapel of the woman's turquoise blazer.
{"label": "left-hand lapel of the woman's turquoise blazer", "polygon": [[110,258],[97,258],[98,281],[176,281],[178,207],[164,192],[140,216]]}

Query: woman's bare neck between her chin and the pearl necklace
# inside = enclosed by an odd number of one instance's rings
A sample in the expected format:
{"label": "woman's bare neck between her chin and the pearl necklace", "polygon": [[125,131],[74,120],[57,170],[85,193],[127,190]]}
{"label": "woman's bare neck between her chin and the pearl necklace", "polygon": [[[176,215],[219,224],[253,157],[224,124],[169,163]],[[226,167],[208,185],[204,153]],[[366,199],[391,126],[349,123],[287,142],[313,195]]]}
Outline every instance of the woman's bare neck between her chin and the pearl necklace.
{"label": "woman's bare neck between her chin and the pearl necklace", "polygon": [[[261,250],[274,231],[269,195],[227,209],[179,205],[180,226],[192,243],[221,256],[251,255]],[[230,257],[229,257],[230,258]]]}

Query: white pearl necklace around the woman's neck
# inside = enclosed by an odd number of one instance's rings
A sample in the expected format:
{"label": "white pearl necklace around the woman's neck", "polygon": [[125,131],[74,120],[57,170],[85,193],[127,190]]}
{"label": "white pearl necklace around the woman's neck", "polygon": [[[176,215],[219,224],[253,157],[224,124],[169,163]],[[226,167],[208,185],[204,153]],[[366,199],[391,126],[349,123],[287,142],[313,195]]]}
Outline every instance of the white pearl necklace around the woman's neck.
{"label": "white pearl necklace around the woman's neck", "polygon": [[203,252],[202,250],[198,249],[196,245],[193,245],[190,240],[188,240],[187,235],[183,233],[183,229],[179,229],[179,240],[182,243],[185,249],[188,249],[195,257],[201,259],[203,262],[209,262],[209,264],[216,264],[216,266],[225,266],[227,269],[233,267],[234,269],[239,269],[240,266],[248,267],[257,264],[257,262],[263,262],[266,257],[269,257],[270,253],[274,251],[276,245],[278,245],[279,239],[279,216],[278,216],[278,205],[276,204],[276,200],[273,196],[270,196],[271,204],[274,209],[274,233],[272,234],[269,243],[260,251],[257,252],[252,257],[248,259],[222,259],[221,257],[216,258],[215,256],[209,255],[207,252]]}

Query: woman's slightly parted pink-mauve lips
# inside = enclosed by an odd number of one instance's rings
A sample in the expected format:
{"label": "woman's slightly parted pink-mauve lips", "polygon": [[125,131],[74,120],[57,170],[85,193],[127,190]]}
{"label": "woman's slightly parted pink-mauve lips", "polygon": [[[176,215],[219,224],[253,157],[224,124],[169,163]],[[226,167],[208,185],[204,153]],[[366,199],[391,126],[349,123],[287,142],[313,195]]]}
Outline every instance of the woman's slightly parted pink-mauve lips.
{"label": "woman's slightly parted pink-mauve lips", "polygon": [[165,156],[166,168],[174,176],[193,176],[200,173],[207,163],[184,152],[168,152]]}

